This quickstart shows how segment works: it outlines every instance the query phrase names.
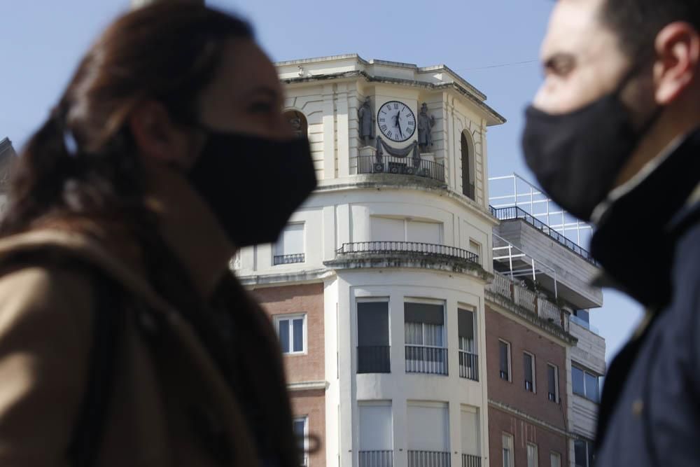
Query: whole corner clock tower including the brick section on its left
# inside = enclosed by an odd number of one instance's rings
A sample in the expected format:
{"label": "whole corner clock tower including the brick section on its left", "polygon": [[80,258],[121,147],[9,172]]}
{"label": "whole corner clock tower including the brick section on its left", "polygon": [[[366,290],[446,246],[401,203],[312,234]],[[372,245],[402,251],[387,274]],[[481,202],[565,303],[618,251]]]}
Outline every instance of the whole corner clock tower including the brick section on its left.
{"label": "whole corner clock tower including the brick section on its left", "polygon": [[489,465],[486,132],[505,120],[443,65],[276,66],[318,188],[232,267],[280,337],[303,465]]}

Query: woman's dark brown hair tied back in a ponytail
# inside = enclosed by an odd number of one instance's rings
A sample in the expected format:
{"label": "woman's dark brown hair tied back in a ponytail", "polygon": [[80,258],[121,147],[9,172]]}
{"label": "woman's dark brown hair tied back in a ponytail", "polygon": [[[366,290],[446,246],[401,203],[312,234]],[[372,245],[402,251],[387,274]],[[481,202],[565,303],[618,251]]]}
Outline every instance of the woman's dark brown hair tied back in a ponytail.
{"label": "woman's dark brown hair tied back in a ponytail", "polygon": [[144,174],[127,117],[155,99],[176,123],[193,123],[225,41],[252,36],[246,22],[187,1],[157,2],[113,22],[20,153],[0,234],[46,216],[138,210]]}

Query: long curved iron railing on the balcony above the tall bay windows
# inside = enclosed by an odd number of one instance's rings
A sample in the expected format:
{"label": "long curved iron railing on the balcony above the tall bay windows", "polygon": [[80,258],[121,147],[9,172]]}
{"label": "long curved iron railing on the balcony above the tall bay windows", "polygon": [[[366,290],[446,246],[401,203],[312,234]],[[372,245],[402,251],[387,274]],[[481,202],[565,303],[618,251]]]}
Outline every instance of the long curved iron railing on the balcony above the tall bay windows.
{"label": "long curved iron railing on the balcony above the tall bay windows", "polygon": [[421,242],[353,242],[344,243],[336,251],[339,255],[353,253],[419,253],[423,256],[435,258],[457,258],[479,264],[479,256],[471,251],[456,248],[455,246],[438,245]]}

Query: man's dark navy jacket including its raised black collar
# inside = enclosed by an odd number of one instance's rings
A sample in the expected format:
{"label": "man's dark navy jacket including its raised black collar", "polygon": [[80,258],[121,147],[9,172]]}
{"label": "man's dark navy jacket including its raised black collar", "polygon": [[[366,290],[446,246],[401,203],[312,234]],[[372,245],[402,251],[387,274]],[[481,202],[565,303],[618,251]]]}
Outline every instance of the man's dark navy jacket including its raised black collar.
{"label": "man's dark navy jacket including its raised black collar", "polygon": [[700,466],[700,131],[661,157],[591,243],[648,310],[605,379],[596,467]]}

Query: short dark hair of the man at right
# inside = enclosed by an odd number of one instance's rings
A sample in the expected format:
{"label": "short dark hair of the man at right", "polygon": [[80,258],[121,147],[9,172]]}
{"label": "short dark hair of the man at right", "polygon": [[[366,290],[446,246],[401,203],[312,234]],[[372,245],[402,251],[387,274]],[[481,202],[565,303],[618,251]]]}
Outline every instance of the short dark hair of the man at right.
{"label": "short dark hair of the man at right", "polygon": [[700,32],[700,0],[605,0],[601,18],[634,57],[651,53],[659,31],[672,22],[688,22]]}

